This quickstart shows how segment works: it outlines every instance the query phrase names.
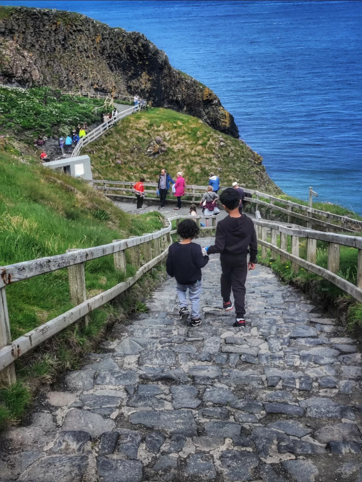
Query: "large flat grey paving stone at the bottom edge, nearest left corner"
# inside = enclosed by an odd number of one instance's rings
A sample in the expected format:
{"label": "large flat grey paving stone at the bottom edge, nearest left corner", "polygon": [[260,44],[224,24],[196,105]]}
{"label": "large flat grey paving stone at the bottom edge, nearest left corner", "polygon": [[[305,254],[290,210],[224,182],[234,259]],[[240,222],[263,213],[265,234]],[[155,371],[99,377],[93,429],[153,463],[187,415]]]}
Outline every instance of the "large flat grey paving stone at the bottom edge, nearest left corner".
{"label": "large flat grey paving stone at the bottom edge, nearest left corner", "polygon": [[34,462],[21,475],[21,480],[34,482],[81,482],[87,467],[87,455],[50,455]]}

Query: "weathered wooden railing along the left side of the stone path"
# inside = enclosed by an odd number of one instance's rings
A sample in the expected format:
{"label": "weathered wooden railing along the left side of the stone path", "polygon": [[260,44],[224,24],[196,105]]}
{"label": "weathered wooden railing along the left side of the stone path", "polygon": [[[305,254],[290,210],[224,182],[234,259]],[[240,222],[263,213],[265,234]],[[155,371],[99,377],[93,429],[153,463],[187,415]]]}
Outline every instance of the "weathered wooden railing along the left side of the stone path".
{"label": "weathered wooden railing along the left side of the stone path", "polygon": [[[93,248],[70,249],[65,254],[33,259],[31,261],[1,267],[0,380],[5,383],[14,383],[16,380],[14,361],[17,358],[78,320],[84,319],[85,324],[87,324],[88,314],[91,311],[109,303],[113,298],[123,293],[138,281],[144,273],[162,261],[167,255],[168,245],[171,241],[171,222],[167,220],[165,222],[168,225],[167,228],[163,228],[153,234],[145,234],[126,240],[113,240],[110,244]],[[143,266],[140,266],[139,247],[142,249]],[[84,262],[112,254],[114,268],[125,272],[125,251],[128,251],[130,255],[131,264],[138,268],[136,274],[109,290],[90,299],[86,299]],[[6,286],[62,268],[68,268],[70,300],[75,307],[12,341],[6,303]]]}

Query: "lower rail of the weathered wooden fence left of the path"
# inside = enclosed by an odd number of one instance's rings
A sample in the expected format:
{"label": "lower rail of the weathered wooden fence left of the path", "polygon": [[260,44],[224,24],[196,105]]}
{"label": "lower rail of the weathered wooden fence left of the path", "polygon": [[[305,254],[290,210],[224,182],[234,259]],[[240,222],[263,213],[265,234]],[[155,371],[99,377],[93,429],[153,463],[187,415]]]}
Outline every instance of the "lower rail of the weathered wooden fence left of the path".
{"label": "lower rail of the weathered wooden fence left of the path", "polygon": [[109,290],[90,298],[84,303],[71,308],[69,311],[57,316],[53,320],[44,323],[35,330],[31,330],[26,335],[20,336],[10,344],[1,348],[0,371],[4,370],[4,368],[12,364],[14,360],[27,353],[29,350],[42,344],[44,341],[64,330],[64,328],[67,328],[74,322],[83,318],[85,315],[88,315],[94,309],[100,308],[106,303],[109,303],[116,296],[125,292],[125,290],[138,281],[144,273],[161,262],[167,256],[167,253],[168,249],[159,254],[157,257],[153,258],[153,260],[149,263],[143,265],[142,268],[139,268],[133,277],[128,278],[126,281],[113,286],[113,288],[110,288]]}

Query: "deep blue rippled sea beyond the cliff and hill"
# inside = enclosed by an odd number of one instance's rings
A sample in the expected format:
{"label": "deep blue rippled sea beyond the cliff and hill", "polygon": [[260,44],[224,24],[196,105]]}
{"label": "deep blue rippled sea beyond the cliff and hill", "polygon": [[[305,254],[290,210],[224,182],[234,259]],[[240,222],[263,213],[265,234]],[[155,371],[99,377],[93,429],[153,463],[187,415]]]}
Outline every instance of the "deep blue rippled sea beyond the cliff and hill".
{"label": "deep blue rippled sea beyond the cliff and hill", "polygon": [[[361,1],[0,1],[137,30],[208,85],[286,193],[362,214]],[[242,179],[240,179],[242,181]]]}

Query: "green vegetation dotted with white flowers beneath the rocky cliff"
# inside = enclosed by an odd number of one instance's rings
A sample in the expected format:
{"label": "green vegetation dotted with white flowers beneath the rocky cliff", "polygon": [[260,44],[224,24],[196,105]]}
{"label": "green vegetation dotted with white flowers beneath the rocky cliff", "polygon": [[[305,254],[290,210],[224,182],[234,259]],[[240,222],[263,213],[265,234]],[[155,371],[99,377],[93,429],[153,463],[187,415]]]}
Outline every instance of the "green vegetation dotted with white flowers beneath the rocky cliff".
{"label": "green vegetation dotted with white flowers beneath the rocky cliff", "polygon": [[34,135],[66,135],[80,122],[99,120],[93,109],[102,105],[101,100],[62,95],[49,87],[20,89],[1,85],[0,129],[23,134],[29,140]]}

